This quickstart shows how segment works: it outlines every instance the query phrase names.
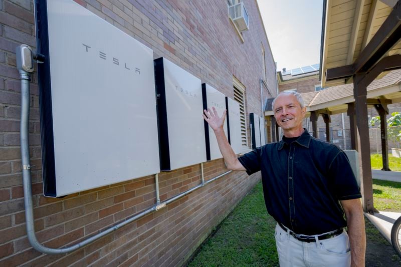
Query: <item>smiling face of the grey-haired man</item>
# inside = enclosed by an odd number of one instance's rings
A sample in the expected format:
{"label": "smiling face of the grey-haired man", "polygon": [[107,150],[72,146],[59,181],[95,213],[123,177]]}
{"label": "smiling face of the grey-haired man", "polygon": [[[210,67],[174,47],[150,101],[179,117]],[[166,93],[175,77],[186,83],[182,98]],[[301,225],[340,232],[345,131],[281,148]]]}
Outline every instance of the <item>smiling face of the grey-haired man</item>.
{"label": "smiling face of the grey-haired man", "polygon": [[302,129],[302,119],[305,117],[306,107],[301,108],[294,95],[279,96],[274,103],[273,111],[277,124],[284,132]]}

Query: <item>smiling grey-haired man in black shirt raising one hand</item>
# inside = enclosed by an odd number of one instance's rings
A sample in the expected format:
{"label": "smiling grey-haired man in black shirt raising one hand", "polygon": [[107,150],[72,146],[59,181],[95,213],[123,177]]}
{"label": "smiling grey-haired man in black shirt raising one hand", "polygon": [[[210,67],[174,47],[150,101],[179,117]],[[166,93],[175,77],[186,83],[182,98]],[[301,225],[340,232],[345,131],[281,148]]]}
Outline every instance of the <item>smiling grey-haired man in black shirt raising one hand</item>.
{"label": "smiling grey-haired man in black shirt raising one hand", "polygon": [[280,265],[364,266],[361,195],[347,157],[302,128],[306,107],[297,92],[280,93],[273,111],[283,140],[239,158],[224,134],[226,111],[219,117],[214,107],[204,110],[204,119],[229,169],[249,175],[261,170],[266,207],[278,222]]}

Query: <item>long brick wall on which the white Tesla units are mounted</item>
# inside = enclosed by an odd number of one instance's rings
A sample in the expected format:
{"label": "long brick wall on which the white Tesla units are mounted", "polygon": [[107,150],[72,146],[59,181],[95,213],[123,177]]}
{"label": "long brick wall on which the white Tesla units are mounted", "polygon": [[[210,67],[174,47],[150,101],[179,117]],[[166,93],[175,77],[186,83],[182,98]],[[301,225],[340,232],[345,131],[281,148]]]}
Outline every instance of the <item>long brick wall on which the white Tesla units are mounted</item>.
{"label": "long brick wall on which the white Tesla units are mounted", "polygon": [[[251,112],[262,115],[263,47],[266,83],[270,94],[276,95],[275,63],[255,0],[244,1],[250,17],[250,29],[242,33],[244,43],[229,20],[226,1],[76,2],[151,48],[154,58],[169,59],[231,98],[234,98],[233,76],[236,77],[246,87],[248,118]],[[0,0],[0,263],[6,266],[183,264],[258,182],[259,173],[250,177],[245,172],[229,173],[72,253],[45,255],[31,247],[25,228],[19,137],[21,86],[15,49],[23,43],[36,45],[33,10],[30,0]],[[263,98],[269,92],[262,89]],[[33,204],[41,243],[55,248],[74,244],[155,204],[154,176],[64,198],[44,197],[36,73],[32,77],[30,99]],[[222,159],[204,164],[206,180],[226,171]],[[200,164],[161,172],[160,199],[171,198],[200,182]]]}

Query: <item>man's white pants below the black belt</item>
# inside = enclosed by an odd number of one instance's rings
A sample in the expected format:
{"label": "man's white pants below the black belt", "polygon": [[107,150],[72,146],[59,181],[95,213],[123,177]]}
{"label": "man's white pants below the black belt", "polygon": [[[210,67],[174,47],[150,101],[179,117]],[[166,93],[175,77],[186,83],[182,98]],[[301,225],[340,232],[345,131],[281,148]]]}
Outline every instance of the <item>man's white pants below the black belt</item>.
{"label": "man's white pants below the black belt", "polygon": [[346,231],[333,238],[303,242],[276,225],[280,266],[350,266],[351,252]]}

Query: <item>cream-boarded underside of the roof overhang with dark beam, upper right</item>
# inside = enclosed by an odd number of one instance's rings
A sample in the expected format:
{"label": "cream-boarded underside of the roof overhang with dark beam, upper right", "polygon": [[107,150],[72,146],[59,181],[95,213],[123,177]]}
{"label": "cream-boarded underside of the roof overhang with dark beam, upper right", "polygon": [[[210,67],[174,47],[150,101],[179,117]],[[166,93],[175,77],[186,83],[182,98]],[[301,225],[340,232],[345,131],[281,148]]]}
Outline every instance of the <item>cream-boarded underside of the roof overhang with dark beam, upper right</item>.
{"label": "cream-boarded underside of the roof overhang with dark beam, upper right", "polygon": [[322,86],[349,83],[353,74],[401,54],[401,1],[325,0],[323,7]]}

